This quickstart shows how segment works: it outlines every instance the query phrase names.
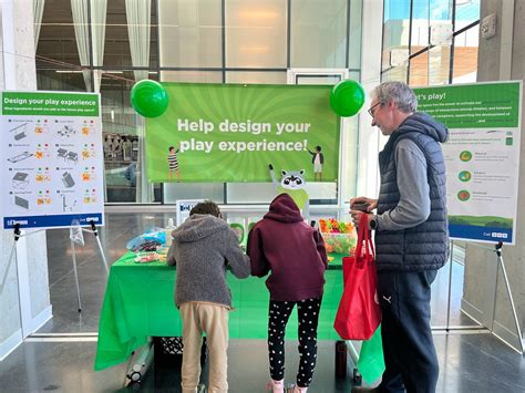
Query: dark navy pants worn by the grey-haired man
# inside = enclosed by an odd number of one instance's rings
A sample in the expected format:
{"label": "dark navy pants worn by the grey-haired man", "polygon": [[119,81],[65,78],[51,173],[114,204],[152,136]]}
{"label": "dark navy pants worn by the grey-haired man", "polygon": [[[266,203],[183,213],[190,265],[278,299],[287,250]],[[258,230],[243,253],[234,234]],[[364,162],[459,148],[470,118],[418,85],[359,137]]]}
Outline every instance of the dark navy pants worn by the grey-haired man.
{"label": "dark navy pants worn by the grey-haired man", "polygon": [[435,392],[440,370],[430,328],[430,286],[436,273],[378,273],[385,364],[381,392]]}

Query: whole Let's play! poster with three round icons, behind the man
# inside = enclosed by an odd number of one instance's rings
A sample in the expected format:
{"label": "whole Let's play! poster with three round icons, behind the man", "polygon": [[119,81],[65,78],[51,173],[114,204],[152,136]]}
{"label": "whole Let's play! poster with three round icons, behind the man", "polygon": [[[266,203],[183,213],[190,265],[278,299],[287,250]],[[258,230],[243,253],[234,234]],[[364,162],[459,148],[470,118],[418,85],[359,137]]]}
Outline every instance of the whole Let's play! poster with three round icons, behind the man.
{"label": "whole Let's play! poster with three round icons, behind the man", "polygon": [[418,110],[449,127],[446,164],[452,238],[514,244],[522,82],[415,89]]}

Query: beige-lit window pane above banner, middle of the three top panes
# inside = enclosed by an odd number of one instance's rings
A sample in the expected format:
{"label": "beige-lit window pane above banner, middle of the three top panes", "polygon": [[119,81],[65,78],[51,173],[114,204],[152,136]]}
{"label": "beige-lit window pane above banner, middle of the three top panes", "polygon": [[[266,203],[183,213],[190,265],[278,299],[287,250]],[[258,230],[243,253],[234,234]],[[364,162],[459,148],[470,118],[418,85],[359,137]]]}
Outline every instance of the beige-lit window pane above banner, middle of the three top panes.
{"label": "beige-lit window pane above banner, middle of the three top panes", "polygon": [[287,2],[226,0],[226,66],[284,69]]}

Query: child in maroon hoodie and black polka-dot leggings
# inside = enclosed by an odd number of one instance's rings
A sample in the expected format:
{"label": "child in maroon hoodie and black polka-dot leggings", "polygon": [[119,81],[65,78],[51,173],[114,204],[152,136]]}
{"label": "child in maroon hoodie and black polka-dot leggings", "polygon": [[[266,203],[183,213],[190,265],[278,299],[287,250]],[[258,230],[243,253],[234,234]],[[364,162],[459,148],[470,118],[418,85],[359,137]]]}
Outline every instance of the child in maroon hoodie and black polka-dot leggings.
{"label": "child in maroon hoodie and black polka-dot leggings", "polygon": [[265,277],[270,291],[267,389],[284,392],[285,329],[294,307],[299,318],[300,363],[295,392],[306,392],[317,358],[317,324],[325,286],[327,251],[319,231],[306,224],[288,194],[278,195],[270,210],[248,236],[251,275]]}

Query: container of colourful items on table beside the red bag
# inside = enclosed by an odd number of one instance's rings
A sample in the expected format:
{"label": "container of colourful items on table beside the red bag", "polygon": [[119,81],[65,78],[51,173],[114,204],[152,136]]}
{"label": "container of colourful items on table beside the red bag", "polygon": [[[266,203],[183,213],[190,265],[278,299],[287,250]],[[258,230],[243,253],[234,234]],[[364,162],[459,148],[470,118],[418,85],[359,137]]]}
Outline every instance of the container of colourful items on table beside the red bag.
{"label": "container of colourful items on table beside the red bag", "polygon": [[354,229],[351,223],[338,221],[334,218],[319,220],[319,230],[329,254],[350,255],[357,242]]}

